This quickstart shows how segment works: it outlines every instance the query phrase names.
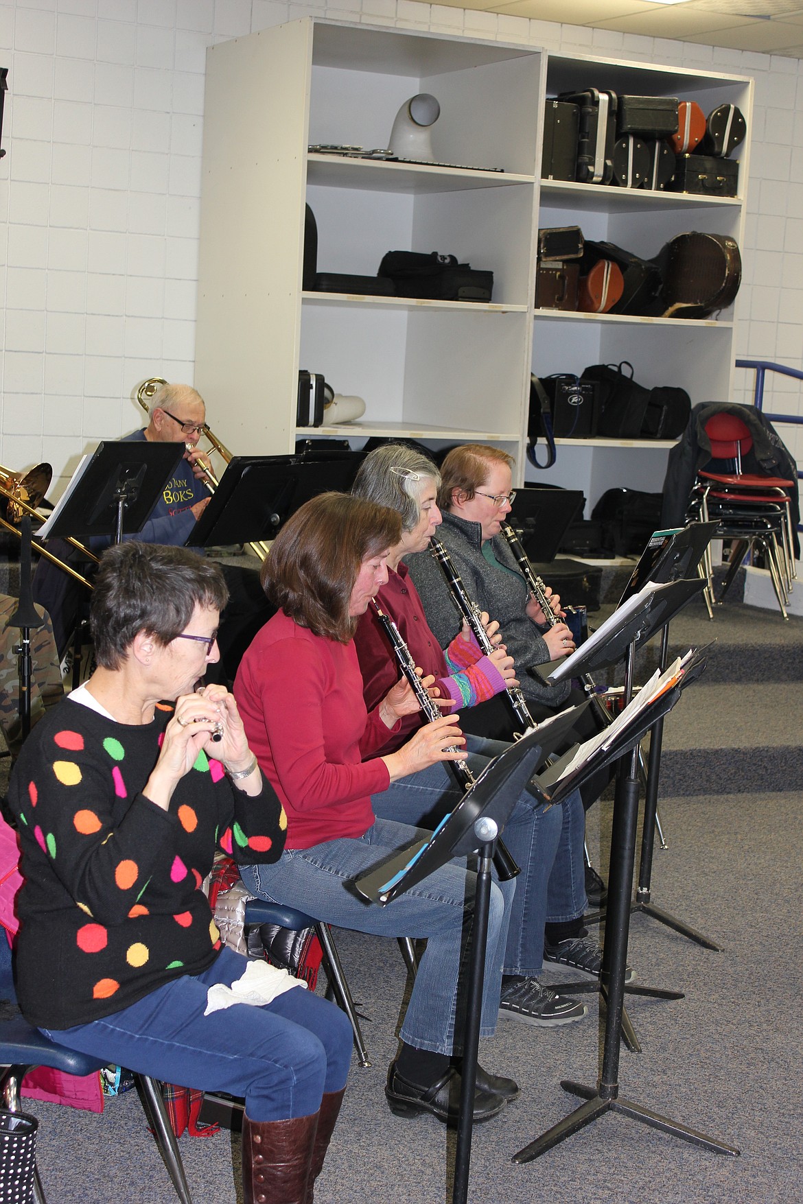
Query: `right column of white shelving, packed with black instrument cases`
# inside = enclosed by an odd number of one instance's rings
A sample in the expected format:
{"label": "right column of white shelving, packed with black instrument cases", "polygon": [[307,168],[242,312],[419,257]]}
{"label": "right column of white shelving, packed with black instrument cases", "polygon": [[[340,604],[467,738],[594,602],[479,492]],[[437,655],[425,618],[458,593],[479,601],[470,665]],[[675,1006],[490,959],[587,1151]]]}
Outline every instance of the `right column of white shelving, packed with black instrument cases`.
{"label": "right column of white shelving, packed with black instrument cases", "polygon": [[[737,105],[748,124],[748,137],[731,155],[739,160],[739,195],[720,197],[542,179],[539,228],[579,225],[586,240],[612,242],[644,259],[657,255],[675,235],[691,230],[726,235],[743,247],[752,81],[585,55],[549,55],[548,96],[589,88],[610,89],[618,95],[696,100],[704,113],[722,104]],[[633,365],[634,378],[646,388],[678,385],[689,393],[692,405],[727,401],[732,396],[737,305],[738,295],[733,305],[705,319],[536,309],[532,371],[538,376],[580,374],[591,364],[626,360]],[[590,513],[612,485],[660,489],[667,449],[673,442],[559,439],[555,466],[544,471],[529,465],[526,479],[581,488]],[[639,454],[633,458],[636,448]],[[544,459],[543,449],[538,459]]]}

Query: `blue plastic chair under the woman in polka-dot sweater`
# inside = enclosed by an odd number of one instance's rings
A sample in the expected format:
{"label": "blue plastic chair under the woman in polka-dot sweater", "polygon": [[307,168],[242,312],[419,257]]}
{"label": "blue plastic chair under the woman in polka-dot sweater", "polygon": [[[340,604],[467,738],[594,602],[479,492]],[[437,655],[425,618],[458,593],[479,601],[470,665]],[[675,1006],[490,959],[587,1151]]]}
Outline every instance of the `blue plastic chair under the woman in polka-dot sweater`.
{"label": "blue plastic chair under the woman in polka-dot sweater", "polygon": [[[83,1076],[100,1070],[106,1066],[106,1062],[90,1057],[88,1054],[77,1054],[64,1045],[57,1045],[55,1041],[43,1037],[39,1029],[31,1028],[22,1016],[0,1020],[0,1067],[5,1067],[0,1074],[0,1091],[2,1092],[4,1106],[8,1111],[18,1112],[22,1110],[19,1085],[28,1072],[34,1070],[37,1066],[48,1066],[54,1070]],[[135,1074],[134,1078],[141,1090],[146,1117],[153,1127],[159,1152],[165,1161],[176,1193],[182,1204],[193,1204],[184,1164],[178,1152],[178,1143],[170,1126],[161,1096],[161,1085],[144,1074]],[[34,1196],[37,1204],[47,1204],[39,1171],[35,1173]]]}

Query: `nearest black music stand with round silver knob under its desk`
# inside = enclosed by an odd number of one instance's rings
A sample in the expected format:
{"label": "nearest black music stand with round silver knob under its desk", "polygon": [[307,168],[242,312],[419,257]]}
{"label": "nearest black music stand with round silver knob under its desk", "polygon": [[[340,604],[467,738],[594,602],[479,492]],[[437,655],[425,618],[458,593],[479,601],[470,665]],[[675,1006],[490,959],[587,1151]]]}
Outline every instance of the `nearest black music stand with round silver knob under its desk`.
{"label": "nearest black music stand with round silver knob under its desk", "polygon": [[479,855],[464,1027],[453,1204],[465,1204],[468,1197],[491,860],[497,837],[542,760],[538,732],[530,731],[485,766],[474,785],[464,795],[451,814],[444,816],[430,840],[419,842],[413,850],[407,849],[394,855],[382,866],[361,874],[354,884],[364,898],[385,907],[453,857]]}

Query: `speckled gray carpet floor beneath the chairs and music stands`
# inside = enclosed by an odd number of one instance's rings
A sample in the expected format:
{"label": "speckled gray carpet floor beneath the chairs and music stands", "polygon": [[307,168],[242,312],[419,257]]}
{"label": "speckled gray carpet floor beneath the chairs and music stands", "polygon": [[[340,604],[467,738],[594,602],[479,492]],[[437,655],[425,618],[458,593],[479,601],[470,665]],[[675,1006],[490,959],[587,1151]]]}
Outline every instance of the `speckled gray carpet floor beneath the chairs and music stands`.
{"label": "speckled gray carpet floor beneath the chairs and music stands", "polygon": [[[512,1163],[516,1150],[575,1106],[561,1079],[596,1081],[602,1032],[595,997],[588,997],[590,1013],[579,1023],[539,1029],[506,1021],[482,1043],[483,1064],[514,1075],[522,1091],[474,1129],[472,1202],[803,1202],[801,675],[790,671],[799,668],[803,620],[783,624],[770,613],[726,607],[713,624],[685,613],[672,635],[673,644],[686,647],[716,636],[719,651],[709,679],[685,692],[667,724],[660,810],[668,849],[656,849],[653,901],[724,951],[633,916],[628,960],[638,981],[677,987],[685,998],[628,1002],[643,1052],[622,1049],[620,1091],[742,1153],[707,1152],[609,1114],[541,1159]],[[730,681],[727,666],[734,669]],[[758,765],[748,789],[731,772],[737,754],[739,766]],[[684,762],[693,767],[689,780],[680,774]],[[610,814],[610,802],[589,813],[589,845],[602,867]],[[429,1119],[394,1117],[383,1094],[406,980],[396,943],[336,937],[373,1064],[352,1069],[317,1204],[447,1202],[453,1134]],[[39,1161],[51,1204],[176,1199],[132,1093],[110,1100],[102,1116],[26,1106],[41,1122]],[[238,1199],[238,1138],[223,1131],[185,1137],[181,1149],[196,1204]]]}

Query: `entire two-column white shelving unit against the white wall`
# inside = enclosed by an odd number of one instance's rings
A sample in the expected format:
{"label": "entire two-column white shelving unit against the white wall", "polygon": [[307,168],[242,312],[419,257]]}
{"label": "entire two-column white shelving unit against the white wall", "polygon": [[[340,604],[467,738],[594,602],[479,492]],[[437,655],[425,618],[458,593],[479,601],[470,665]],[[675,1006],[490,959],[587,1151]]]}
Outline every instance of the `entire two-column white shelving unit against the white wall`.
{"label": "entire two-column white shelving unit against the white wall", "polygon": [[[742,242],[740,197],[542,182],[544,96],[586,87],[677,95],[709,110],[734,101],[750,125],[746,78],[533,47],[309,17],[211,47],[195,380],[223,441],[256,454],[291,452],[299,435],[358,447],[373,435],[433,447],[492,442],[515,455],[520,482],[531,371],[626,359],[646,385],[727,399],[731,313],[692,321],[533,308],[538,226],[577,224],[646,256],[689,229]],[[400,105],[419,92],[441,102],[436,155],[465,167],[308,152],[386,146]],[[739,158],[744,191],[744,148]],[[388,250],[437,250],[492,270],[492,303],[305,291],[305,202],[318,225],[318,271],[376,275]],[[364,397],[364,419],[297,427],[302,367]],[[527,466],[527,479],[580,486],[590,504],[606,482],[655,489],[669,445],[560,443],[557,465]]]}

